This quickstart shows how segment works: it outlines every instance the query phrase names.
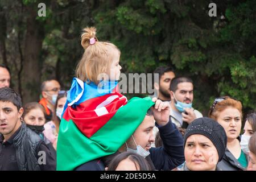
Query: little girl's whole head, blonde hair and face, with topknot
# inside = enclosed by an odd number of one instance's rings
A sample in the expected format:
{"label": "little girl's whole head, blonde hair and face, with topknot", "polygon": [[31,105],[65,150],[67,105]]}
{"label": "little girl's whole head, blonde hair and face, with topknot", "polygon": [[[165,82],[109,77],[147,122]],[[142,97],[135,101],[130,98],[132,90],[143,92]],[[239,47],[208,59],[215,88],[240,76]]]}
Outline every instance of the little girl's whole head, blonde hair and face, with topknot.
{"label": "little girl's whole head, blonde hair and face, with topknot", "polygon": [[105,80],[119,80],[120,51],[112,43],[99,42],[96,38],[96,28],[84,28],[81,35],[81,45],[85,49],[84,55],[76,68],[76,77],[82,81],[99,84],[100,75],[105,73]]}

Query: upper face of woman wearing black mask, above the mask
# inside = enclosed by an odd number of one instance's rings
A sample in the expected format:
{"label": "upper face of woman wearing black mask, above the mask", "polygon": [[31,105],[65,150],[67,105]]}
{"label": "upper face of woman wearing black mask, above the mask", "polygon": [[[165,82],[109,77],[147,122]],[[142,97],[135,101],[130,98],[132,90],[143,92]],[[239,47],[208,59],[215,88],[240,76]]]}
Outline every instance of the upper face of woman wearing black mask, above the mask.
{"label": "upper face of woman wearing black mask, above the mask", "polygon": [[24,117],[24,122],[28,125],[42,126],[46,123],[46,118],[41,109],[31,109]]}

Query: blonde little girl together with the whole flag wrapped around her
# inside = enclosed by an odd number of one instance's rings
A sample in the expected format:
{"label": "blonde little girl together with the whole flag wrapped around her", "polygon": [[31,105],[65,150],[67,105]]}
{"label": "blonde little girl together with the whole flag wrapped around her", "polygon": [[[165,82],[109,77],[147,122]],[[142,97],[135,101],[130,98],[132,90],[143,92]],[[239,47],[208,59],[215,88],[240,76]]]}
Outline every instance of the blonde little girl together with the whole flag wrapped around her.
{"label": "blonde little girl together with the whole flag wrapped around her", "polygon": [[99,42],[96,28],[84,28],[81,45],[84,55],[60,122],[57,170],[73,170],[116,152],[156,102],[149,97],[127,102],[118,92],[120,51],[112,43]]}

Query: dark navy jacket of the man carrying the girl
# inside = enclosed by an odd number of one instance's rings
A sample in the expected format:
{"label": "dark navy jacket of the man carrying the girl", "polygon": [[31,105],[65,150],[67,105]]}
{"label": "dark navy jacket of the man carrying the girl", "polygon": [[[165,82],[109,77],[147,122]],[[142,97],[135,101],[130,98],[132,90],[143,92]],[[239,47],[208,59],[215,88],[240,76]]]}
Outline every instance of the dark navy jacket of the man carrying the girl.
{"label": "dark navy jacket of the man carrying the girl", "polygon": [[[170,121],[165,126],[158,126],[163,147],[150,148],[150,158],[157,170],[171,170],[185,161],[183,150],[183,137],[174,123]],[[75,170],[102,170],[106,164],[101,159],[92,160],[82,164]]]}

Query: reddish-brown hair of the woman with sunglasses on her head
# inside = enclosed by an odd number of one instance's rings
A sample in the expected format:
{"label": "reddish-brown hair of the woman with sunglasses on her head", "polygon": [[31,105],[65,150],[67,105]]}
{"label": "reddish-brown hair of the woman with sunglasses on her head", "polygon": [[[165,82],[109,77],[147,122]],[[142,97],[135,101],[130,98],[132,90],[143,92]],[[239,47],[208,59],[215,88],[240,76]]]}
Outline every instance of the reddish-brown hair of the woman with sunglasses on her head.
{"label": "reddish-brown hair of the woman with sunglasses on her head", "polygon": [[221,111],[224,111],[228,107],[234,107],[241,113],[242,121],[242,104],[240,101],[236,101],[233,98],[227,98],[221,102],[218,102],[212,111],[209,111],[209,118],[215,119],[217,121],[218,115]]}

